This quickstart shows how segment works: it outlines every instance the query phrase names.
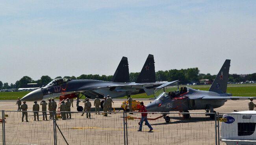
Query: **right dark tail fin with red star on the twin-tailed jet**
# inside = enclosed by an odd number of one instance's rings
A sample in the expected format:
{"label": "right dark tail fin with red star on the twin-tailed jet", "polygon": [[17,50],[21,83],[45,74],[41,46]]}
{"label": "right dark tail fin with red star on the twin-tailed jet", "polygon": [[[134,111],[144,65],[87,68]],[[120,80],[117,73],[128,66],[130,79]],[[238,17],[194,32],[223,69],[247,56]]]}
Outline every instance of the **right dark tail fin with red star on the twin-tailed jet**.
{"label": "right dark tail fin with red star on the twin-tailed jet", "polygon": [[136,83],[152,83],[156,82],[156,72],[155,72],[155,61],[154,55],[149,54],[148,58],[139,73]]}

